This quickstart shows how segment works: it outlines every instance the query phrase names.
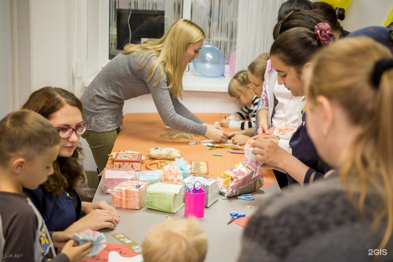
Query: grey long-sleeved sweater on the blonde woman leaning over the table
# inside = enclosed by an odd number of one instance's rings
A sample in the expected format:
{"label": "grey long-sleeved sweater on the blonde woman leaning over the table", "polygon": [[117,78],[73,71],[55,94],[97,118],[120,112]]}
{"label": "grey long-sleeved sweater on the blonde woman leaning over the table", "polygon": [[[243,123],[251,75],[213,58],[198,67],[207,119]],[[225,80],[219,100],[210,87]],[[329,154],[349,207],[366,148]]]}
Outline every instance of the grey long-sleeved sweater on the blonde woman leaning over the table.
{"label": "grey long-sleeved sweater on the blonde woman leaning over the table", "polygon": [[165,125],[184,132],[205,135],[207,127],[173,98],[167,89],[167,75],[164,73],[157,86],[156,70],[147,82],[152,57],[145,68],[138,70],[137,61],[143,52],[136,55],[119,54],[112,59],[93,79],[81,96],[83,120],[88,122],[88,130],[111,131],[123,124],[124,101],[151,93],[157,111]]}

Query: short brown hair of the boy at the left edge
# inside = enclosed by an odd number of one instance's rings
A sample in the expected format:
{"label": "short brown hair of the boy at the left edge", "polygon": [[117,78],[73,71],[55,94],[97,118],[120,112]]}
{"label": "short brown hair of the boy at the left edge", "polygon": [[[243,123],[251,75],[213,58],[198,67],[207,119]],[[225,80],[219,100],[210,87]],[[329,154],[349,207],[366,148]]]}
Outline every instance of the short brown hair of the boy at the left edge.
{"label": "short brown hair of the boy at the left edge", "polygon": [[0,120],[0,166],[13,157],[33,161],[42,151],[60,143],[59,132],[51,122],[31,110],[19,110]]}

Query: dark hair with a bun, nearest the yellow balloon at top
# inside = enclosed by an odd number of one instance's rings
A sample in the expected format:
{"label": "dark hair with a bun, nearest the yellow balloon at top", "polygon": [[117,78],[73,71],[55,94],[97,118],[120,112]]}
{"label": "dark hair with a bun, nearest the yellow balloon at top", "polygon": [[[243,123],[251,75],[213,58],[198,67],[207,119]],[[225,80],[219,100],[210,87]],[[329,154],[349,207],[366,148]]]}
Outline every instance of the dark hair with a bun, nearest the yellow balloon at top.
{"label": "dark hair with a bun, nearest the yellow balloon at top", "polygon": [[342,21],[345,18],[344,8],[336,7],[336,9],[334,9],[334,7],[325,2],[314,2],[312,3],[312,6],[314,9],[320,10],[322,12],[326,22],[332,28],[332,32],[337,39],[344,38],[349,35],[349,31],[344,30],[338,21]]}

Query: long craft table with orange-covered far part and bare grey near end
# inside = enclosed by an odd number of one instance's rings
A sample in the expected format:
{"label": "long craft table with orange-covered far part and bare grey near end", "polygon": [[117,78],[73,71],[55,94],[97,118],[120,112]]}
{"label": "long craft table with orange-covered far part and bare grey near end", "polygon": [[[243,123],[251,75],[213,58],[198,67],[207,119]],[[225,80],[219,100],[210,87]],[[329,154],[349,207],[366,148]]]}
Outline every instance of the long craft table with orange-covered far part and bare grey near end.
{"label": "long craft table with orange-covered far part and bare grey near end", "polygon": [[[195,115],[210,124],[219,121],[227,114],[200,113]],[[169,130],[175,131],[174,129],[165,127],[157,113],[125,114],[123,126],[121,127],[119,136],[114,144],[113,151],[134,150],[144,154],[144,152],[150,148],[173,147],[182,151],[182,157],[184,157],[187,161],[207,161],[209,165],[209,176],[213,178],[217,177],[217,175],[223,171],[228,170],[237,162],[244,160],[244,155],[228,153],[226,151],[228,148],[206,151],[206,146],[202,146],[200,144],[189,145],[190,141],[204,140],[196,135],[192,140],[177,141],[159,137],[161,133],[165,133]],[[229,130],[230,129],[226,129],[226,131]],[[222,154],[222,157],[213,156],[213,153]],[[154,159],[147,156],[146,160],[142,163],[141,170],[146,170],[145,164],[153,160]],[[112,167],[113,161],[108,160],[107,168]],[[261,188],[256,192],[253,192],[252,196],[255,197],[254,200],[222,200],[224,197],[220,195],[219,200],[213,203],[210,207],[205,208],[204,217],[198,218],[202,228],[209,235],[209,248],[206,255],[206,262],[231,262],[237,260],[237,256],[241,249],[241,238],[244,228],[233,222],[227,225],[226,223],[230,219],[229,213],[235,210],[238,212],[245,212],[246,216],[250,216],[253,212],[255,212],[259,201],[261,201],[265,195],[280,192],[272,170],[264,169],[263,172],[264,181],[271,183],[272,186]],[[101,179],[93,201],[104,200],[107,201],[108,204],[111,204],[110,195],[105,194],[101,188],[102,183],[103,179]],[[246,205],[253,206],[255,208],[247,208]],[[185,217],[184,207],[176,214],[152,210],[147,207],[142,207],[140,210],[125,208],[116,209],[120,215],[119,224],[114,230],[102,231],[107,237],[107,242],[114,244],[119,244],[119,242],[111,236],[112,234],[125,233],[138,244],[142,244],[144,235],[148,229],[156,223],[167,219],[165,215],[168,215],[170,218]]]}

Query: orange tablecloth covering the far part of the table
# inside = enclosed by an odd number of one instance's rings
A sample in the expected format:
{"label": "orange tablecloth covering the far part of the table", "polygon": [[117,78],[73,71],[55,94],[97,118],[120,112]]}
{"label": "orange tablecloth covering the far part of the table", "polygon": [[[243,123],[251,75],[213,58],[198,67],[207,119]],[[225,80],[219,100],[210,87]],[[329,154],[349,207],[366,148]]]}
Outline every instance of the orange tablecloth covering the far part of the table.
{"label": "orange tablecloth covering the far part of the table", "polygon": [[[228,114],[223,113],[195,113],[200,119],[208,124],[214,124]],[[224,128],[226,131],[233,129]],[[160,134],[167,131],[177,131],[175,129],[167,128],[163,124],[158,113],[128,113],[123,119],[123,126],[113,147],[113,151],[119,150],[134,150],[139,151],[145,155],[146,160],[142,162],[141,170],[146,170],[145,164],[154,161],[155,159],[146,155],[146,150],[156,147],[171,147],[176,148],[182,152],[182,157],[186,161],[206,161],[209,166],[209,176],[217,177],[220,173],[230,169],[232,166],[244,160],[242,154],[231,154],[227,152],[230,148],[219,148],[214,150],[206,150],[206,146],[195,144],[190,145],[191,141],[208,140],[209,138],[199,138],[194,135],[194,138],[171,140],[168,138],[161,138]],[[242,150],[233,150],[243,152]],[[222,157],[213,156],[213,154],[222,154]],[[113,168],[113,161],[108,160],[107,168]],[[277,181],[274,173],[270,169],[263,169],[265,181]]]}

